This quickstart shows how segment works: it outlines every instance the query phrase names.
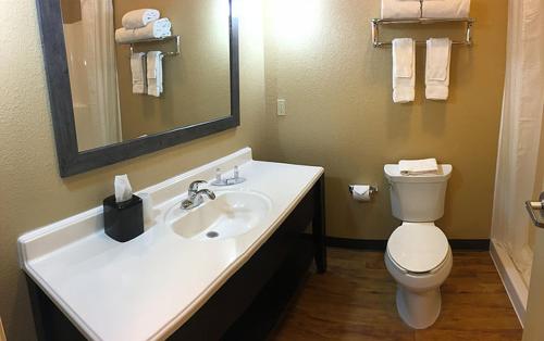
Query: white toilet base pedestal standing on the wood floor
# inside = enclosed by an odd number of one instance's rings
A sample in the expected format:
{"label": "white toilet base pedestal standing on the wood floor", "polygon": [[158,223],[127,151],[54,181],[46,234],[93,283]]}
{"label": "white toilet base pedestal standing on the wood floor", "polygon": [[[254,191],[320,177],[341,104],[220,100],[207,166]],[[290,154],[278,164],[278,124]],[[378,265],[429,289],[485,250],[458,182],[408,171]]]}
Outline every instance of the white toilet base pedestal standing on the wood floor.
{"label": "white toilet base pedestal standing on the wood floor", "polygon": [[441,314],[440,287],[413,292],[397,283],[397,312],[405,324],[413,329],[431,327]]}

